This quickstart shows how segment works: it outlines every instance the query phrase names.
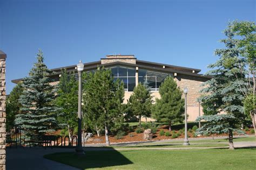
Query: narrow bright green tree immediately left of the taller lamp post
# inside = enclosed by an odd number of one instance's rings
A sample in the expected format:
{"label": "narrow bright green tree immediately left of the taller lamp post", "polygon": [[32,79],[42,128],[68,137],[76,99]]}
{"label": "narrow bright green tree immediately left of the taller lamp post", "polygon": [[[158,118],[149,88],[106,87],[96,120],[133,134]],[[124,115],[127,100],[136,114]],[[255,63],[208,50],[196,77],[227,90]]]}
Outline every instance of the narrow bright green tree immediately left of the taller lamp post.
{"label": "narrow bright green tree immediately left of the taller lamp post", "polygon": [[58,116],[58,122],[68,128],[71,140],[77,126],[78,81],[75,79],[75,73],[68,74],[66,69],[62,70],[61,75],[57,87],[58,97],[56,98],[56,105],[62,112]]}

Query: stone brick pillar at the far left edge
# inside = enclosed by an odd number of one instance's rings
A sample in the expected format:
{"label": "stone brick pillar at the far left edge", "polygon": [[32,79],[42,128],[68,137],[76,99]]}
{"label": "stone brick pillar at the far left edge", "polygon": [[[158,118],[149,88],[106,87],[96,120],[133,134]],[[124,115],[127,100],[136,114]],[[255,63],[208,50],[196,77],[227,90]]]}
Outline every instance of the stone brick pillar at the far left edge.
{"label": "stone brick pillar at the far left edge", "polygon": [[0,169],[5,170],[5,59],[6,54],[0,50]]}

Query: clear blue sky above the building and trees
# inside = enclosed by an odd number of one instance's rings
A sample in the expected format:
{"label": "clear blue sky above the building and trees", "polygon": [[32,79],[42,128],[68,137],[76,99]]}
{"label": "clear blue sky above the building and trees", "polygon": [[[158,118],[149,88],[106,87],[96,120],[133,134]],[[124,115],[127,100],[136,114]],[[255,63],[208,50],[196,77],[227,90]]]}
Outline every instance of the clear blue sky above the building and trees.
{"label": "clear blue sky above the building and trees", "polygon": [[38,48],[49,68],[107,54],[207,71],[230,20],[255,21],[255,1],[0,0],[0,49],[8,55],[6,90],[28,75]]}

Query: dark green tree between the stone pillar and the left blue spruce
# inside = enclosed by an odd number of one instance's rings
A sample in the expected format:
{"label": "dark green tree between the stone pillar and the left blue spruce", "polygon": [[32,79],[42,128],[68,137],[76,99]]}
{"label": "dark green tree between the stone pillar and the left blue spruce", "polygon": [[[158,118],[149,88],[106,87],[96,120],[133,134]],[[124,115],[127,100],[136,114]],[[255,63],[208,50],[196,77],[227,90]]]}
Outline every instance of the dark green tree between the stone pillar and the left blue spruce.
{"label": "dark green tree between the stone pillar and the left blue spruce", "polygon": [[19,82],[6,98],[6,129],[9,130],[15,126],[15,116],[21,114],[21,103],[19,97],[23,94],[22,83]]}

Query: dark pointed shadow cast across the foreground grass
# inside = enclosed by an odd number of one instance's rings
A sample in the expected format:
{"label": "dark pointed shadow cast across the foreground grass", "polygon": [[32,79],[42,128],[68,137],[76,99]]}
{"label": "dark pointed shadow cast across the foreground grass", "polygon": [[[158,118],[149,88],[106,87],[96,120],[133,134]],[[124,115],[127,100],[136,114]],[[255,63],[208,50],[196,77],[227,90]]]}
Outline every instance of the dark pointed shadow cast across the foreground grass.
{"label": "dark pointed shadow cast across the foreground grass", "polygon": [[62,152],[44,155],[44,158],[70,165],[80,169],[105,168],[133,164],[123,154],[109,148],[103,152],[85,151],[85,155],[78,156],[74,152]]}

